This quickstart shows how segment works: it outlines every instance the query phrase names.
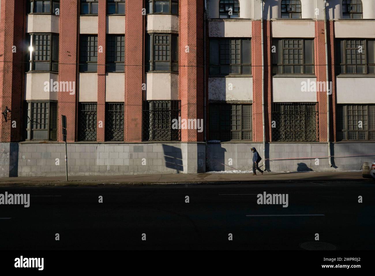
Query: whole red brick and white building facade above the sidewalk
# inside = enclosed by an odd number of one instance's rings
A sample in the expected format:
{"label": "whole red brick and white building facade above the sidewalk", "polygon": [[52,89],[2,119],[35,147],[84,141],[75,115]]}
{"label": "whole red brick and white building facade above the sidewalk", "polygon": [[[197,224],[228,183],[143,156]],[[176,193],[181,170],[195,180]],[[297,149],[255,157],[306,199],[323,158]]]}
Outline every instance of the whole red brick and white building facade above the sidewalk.
{"label": "whole red brick and white building facade above the sidewalk", "polygon": [[16,2],[0,1],[0,176],[64,175],[61,115],[69,175],[248,170],[253,146],[271,171],[374,159],[371,0],[328,1],[328,86],[324,0]]}

